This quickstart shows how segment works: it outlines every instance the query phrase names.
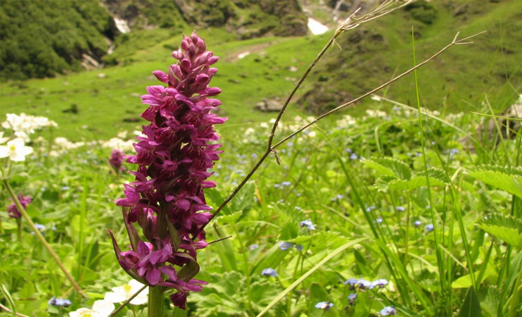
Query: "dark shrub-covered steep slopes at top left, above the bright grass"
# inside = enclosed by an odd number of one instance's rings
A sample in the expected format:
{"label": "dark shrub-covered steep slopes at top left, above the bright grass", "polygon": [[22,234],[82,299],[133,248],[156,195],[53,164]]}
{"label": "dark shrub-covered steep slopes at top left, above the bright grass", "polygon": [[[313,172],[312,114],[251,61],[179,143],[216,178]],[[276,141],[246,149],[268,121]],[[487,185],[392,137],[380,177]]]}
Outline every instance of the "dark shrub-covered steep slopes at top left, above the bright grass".
{"label": "dark shrub-covered steep slopes at top left, above the bright grass", "polygon": [[[122,34],[115,18],[133,32]],[[207,27],[221,27],[231,39],[307,32],[297,0],[5,0],[0,1],[0,80],[132,63],[144,44]]]}

